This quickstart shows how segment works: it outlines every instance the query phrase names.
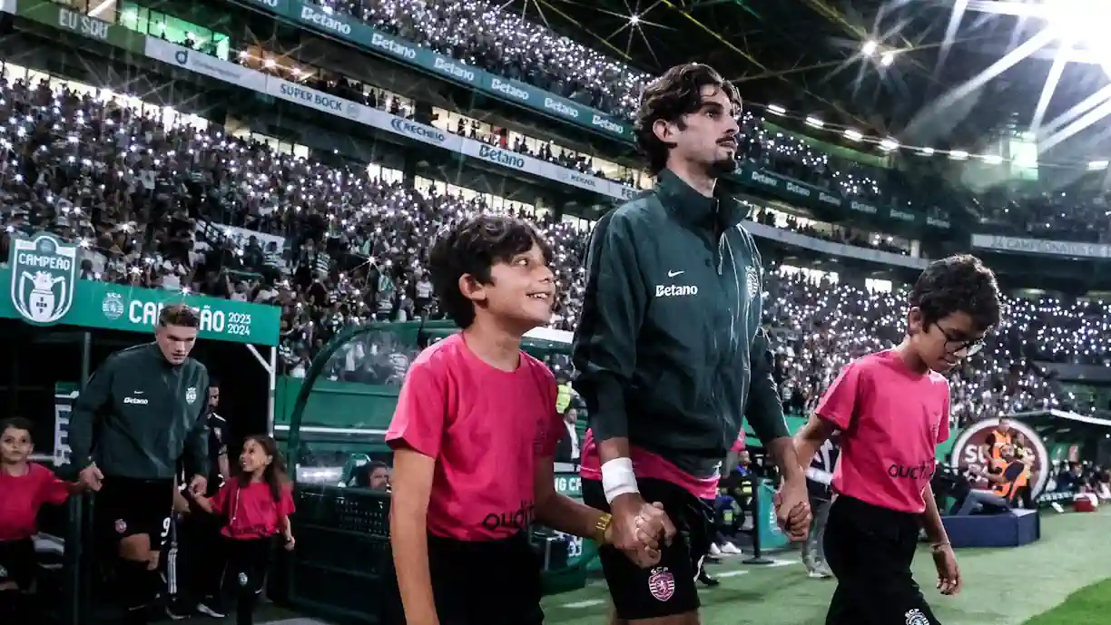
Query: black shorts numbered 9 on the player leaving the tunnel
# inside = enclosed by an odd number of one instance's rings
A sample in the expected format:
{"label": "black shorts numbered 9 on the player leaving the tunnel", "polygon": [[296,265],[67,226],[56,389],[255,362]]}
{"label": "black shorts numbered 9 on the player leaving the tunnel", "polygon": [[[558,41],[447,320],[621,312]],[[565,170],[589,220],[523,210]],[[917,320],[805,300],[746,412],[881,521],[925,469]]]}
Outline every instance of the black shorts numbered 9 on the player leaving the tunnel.
{"label": "black shorts numbered 9 on the player leaving the tunnel", "polygon": [[104,476],[96,500],[97,533],[108,542],[146,534],[158,548],[170,533],[173,480]]}

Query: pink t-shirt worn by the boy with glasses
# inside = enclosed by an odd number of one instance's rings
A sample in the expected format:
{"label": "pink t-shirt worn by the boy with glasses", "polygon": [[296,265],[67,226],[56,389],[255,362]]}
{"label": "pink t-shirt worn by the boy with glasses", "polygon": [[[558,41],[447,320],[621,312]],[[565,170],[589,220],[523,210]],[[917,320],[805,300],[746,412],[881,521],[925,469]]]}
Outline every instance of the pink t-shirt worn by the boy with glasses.
{"label": "pink t-shirt worn by the boy with glasses", "polygon": [[892,350],[841,370],[814,411],[842,432],[833,490],[899,512],[925,510],[937,446],[949,438],[949,382]]}

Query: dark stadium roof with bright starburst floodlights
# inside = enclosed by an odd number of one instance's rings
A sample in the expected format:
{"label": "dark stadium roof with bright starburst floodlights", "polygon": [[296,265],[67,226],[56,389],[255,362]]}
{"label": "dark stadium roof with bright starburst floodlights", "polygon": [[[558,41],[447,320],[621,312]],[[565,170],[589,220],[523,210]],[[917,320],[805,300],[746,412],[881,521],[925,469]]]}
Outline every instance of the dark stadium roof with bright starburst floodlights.
{"label": "dark stadium roof with bright starburst floodlights", "polygon": [[[852,128],[903,145],[970,148],[1013,122],[1054,125],[1111,93],[1099,32],[1102,0],[509,0],[527,19],[659,74],[701,61],[753,104],[778,104],[827,130]],[[1108,63],[1111,70],[1111,63]],[[1111,89],[1109,89],[1111,91]],[[1102,104],[1109,108],[1111,104]],[[1100,109],[1100,107],[1093,107]],[[1042,110],[1044,109],[1044,110]],[[1099,152],[1108,111],[1080,118]],[[1094,132],[1090,131],[1095,124]],[[1065,132],[1068,137],[1072,134]],[[1052,142],[1051,142],[1052,143]]]}

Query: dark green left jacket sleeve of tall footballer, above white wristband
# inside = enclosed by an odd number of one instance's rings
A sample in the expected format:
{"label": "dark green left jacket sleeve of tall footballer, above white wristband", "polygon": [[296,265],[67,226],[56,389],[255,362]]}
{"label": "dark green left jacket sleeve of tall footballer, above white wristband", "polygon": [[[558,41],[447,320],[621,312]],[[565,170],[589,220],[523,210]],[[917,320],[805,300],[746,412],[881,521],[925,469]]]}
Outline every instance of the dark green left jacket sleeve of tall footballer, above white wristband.
{"label": "dark green left jacket sleeve of tall footballer, above white wristband", "polygon": [[613,212],[594,225],[587,254],[587,289],[574,335],[574,389],[601,443],[629,436],[624,391],[637,367],[637,337],[649,293],[640,273],[633,232]]}

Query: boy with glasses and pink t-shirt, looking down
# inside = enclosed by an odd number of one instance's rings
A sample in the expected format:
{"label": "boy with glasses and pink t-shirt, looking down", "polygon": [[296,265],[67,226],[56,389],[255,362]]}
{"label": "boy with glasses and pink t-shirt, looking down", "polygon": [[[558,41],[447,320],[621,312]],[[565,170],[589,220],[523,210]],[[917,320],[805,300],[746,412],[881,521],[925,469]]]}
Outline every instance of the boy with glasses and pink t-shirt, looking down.
{"label": "boy with glasses and pink t-shirt, looking down", "polygon": [[907,336],[849,363],[795,435],[799,462],[840,432],[825,560],[838,578],[827,625],[938,625],[910,566],[924,528],[938,588],[961,588],[957,557],[930,488],[949,437],[944,374],[979,352],[999,323],[999,286],[971,255],[934,261],[910,293]]}

